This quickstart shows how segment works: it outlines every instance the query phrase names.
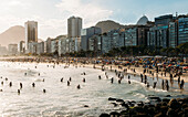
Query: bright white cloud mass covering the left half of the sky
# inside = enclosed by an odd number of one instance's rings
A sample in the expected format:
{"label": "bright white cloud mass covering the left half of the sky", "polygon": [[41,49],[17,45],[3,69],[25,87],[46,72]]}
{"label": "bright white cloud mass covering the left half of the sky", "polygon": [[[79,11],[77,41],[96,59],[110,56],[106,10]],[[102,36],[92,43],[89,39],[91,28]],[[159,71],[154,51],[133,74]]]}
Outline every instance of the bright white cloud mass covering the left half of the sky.
{"label": "bright white cloud mass covering the left half of the sky", "polygon": [[[83,18],[84,28],[108,19],[113,11],[100,6],[100,0],[0,0],[0,32],[28,20],[38,21],[39,38],[55,38],[67,33],[67,18]],[[104,0],[107,1],[107,0]]]}

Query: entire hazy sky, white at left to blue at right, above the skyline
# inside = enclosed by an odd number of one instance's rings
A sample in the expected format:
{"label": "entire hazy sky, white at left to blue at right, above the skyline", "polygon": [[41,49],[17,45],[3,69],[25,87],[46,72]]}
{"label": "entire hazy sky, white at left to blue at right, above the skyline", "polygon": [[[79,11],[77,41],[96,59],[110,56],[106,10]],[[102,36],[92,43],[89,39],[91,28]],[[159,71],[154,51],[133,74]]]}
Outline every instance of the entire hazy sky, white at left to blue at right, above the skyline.
{"label": "entire hazy sky, white at left to blue at right, above the skyline", "polygon": [[83,26],[102,20],[122,24],[136,23],[146,14],[149,20],[167,13],[188,13],[188,0],[0,0],[0,32],[28,20],[39,22],[39,38],[66,34],[71,15],[83,18]]}

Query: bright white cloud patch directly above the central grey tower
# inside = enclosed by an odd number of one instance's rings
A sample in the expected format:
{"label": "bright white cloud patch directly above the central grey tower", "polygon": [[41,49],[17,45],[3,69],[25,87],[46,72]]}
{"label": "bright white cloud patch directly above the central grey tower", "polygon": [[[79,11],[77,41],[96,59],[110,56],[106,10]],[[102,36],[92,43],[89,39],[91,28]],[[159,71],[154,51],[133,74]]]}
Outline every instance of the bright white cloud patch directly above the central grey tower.
{"label": "bright white cloud patch directly above the central grey tower", "polygon": [[98,20],[106,20],[113,14],[112,10],[105,9],[96,1],[61,0],[55,7],[61,13],[65,14],[64,18],[66,19],[71,15],[83,18],[85,28],[96,24]]}

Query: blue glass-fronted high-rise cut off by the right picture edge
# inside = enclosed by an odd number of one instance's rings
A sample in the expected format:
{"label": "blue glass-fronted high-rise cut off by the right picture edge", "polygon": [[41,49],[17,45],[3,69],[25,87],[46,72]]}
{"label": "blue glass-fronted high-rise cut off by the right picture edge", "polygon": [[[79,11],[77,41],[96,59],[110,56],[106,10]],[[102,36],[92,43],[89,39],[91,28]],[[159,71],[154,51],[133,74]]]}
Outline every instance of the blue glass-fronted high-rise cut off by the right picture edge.
{"label": "blue glass-fronted high-rise cut off by the right picture edge", "polygon": [[188,42],[188,18],[180,18],[178,24],[178,44],[182,44]]}

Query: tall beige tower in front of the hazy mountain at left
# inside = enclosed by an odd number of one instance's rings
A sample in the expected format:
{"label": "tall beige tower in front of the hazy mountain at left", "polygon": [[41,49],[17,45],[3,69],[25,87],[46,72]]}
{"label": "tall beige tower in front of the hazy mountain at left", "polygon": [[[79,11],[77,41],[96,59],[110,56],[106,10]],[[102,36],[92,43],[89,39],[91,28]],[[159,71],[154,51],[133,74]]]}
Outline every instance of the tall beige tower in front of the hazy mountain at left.
{"label": "tall beige tower in front of the hazy mountain at left", "polygon": [[29,49],[29,43],[38,42],[38,22],[28,21],[24,23],[25,28],[25,50]]}

